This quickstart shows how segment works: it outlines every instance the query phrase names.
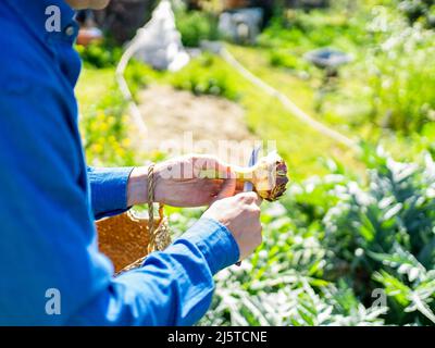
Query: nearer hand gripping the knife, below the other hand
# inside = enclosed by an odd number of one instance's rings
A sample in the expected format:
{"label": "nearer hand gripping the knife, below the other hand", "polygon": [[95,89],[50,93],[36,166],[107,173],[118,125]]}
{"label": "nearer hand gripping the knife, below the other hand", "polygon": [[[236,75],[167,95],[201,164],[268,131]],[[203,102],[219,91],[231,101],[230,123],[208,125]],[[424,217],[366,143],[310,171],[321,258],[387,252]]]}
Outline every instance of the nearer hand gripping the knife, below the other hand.
{"label": "nearer hand gripping the knife, below the other hand", "polygon": [[214,219],[225,225],[236,239],[240,260],[262,243],[260,223],[261,198],[256,192],[243,192],[216,200],[203,217]]}

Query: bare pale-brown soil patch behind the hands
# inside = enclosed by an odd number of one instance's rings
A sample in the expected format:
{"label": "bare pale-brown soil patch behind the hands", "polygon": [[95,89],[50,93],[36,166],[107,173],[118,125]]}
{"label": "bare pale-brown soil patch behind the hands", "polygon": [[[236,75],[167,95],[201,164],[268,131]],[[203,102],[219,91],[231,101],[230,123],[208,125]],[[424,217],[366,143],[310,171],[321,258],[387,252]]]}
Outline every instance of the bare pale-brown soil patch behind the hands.
{"label": "bare pale-brown soil patch behind the hands", "polygon": [[[223,98],[151,85],[138,94],[138,109],[147,126],[147,139],[141,140],[147,151],[207,152],[227,158],[236,146],[250,151],[256,140],[246,125],[245,110]],[[236,152],[228,160],[240,163],[245,153]]]}

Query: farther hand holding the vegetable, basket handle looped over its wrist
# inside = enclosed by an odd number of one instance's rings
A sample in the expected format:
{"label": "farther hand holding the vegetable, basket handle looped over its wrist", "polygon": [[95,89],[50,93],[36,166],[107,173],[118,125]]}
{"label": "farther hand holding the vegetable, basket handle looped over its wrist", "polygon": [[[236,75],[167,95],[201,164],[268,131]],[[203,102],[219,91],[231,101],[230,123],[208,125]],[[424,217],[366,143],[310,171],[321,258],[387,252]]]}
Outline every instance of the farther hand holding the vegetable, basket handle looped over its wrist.
{"label": "farther hand holding the vegetable, basket handle looped over its wrist", "polygon": [[[127,192],[129,207],[147,202],[147,166],[132,172]],[[210,177],[210,173],[214,173],[214,177]],[[158,163],[154,175],[154,201],[172,207],[209,206],[217,195],[229,197],[243,188],[235,183],[228,186],[235,176],[231,166],[212,156],[184,156]]]}

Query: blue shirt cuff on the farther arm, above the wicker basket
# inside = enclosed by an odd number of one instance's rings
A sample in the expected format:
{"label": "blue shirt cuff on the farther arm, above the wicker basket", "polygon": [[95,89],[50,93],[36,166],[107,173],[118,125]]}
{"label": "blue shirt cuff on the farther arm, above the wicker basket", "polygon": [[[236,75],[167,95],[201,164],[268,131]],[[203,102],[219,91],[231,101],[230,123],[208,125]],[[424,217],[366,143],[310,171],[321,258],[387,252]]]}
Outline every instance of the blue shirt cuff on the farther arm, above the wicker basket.
{"label": "blue shirt cuff on the farther arm, above the wicker basket", "polygon": [[127,184],[134,167],[88,167],[91,203],[97,219],[127,210]]}

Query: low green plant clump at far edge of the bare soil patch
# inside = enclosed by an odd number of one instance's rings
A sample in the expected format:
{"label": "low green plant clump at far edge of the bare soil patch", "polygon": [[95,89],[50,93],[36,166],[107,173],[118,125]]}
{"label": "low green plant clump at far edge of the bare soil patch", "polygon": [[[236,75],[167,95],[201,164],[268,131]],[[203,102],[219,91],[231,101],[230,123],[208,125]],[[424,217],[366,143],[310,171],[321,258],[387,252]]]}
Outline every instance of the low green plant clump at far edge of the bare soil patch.
{"label": "low green plant clump at far edge of the bare soil patch", "polygon": [[197,96],[212,95],[237,100],[238,88],[234,76],[225,70],[214,69],[214,57],[202,54],[175,73],[170,82],[175,88],[189,90]]}

